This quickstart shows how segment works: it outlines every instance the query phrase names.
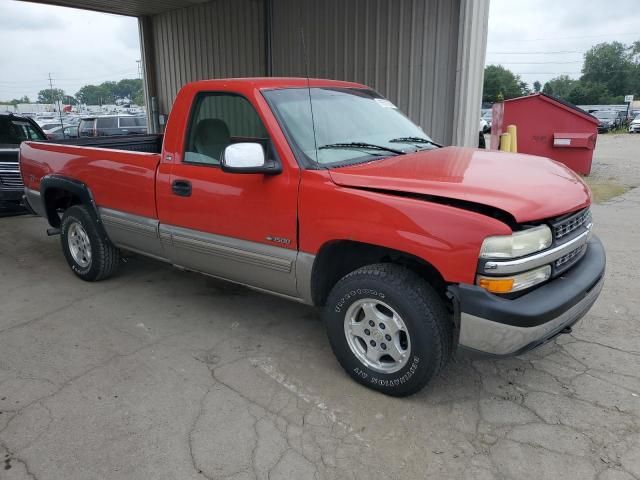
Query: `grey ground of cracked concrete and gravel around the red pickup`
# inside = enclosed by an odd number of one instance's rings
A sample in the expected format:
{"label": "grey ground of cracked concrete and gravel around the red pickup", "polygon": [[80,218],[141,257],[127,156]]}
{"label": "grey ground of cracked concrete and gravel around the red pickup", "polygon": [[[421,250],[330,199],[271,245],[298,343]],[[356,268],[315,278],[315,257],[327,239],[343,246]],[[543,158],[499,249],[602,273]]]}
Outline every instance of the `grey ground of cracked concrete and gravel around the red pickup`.
{"label": "grey ground of cracked concrete and gravel around the red pickup", "polygon": [[[638,178],[622,143],[594,174]],[[607,281],[571,335],[406,399],[351,381],[312,308],[135,257],[84,283],[2,218],[0,478],[638,480],[640,189],[593,214]]]}

